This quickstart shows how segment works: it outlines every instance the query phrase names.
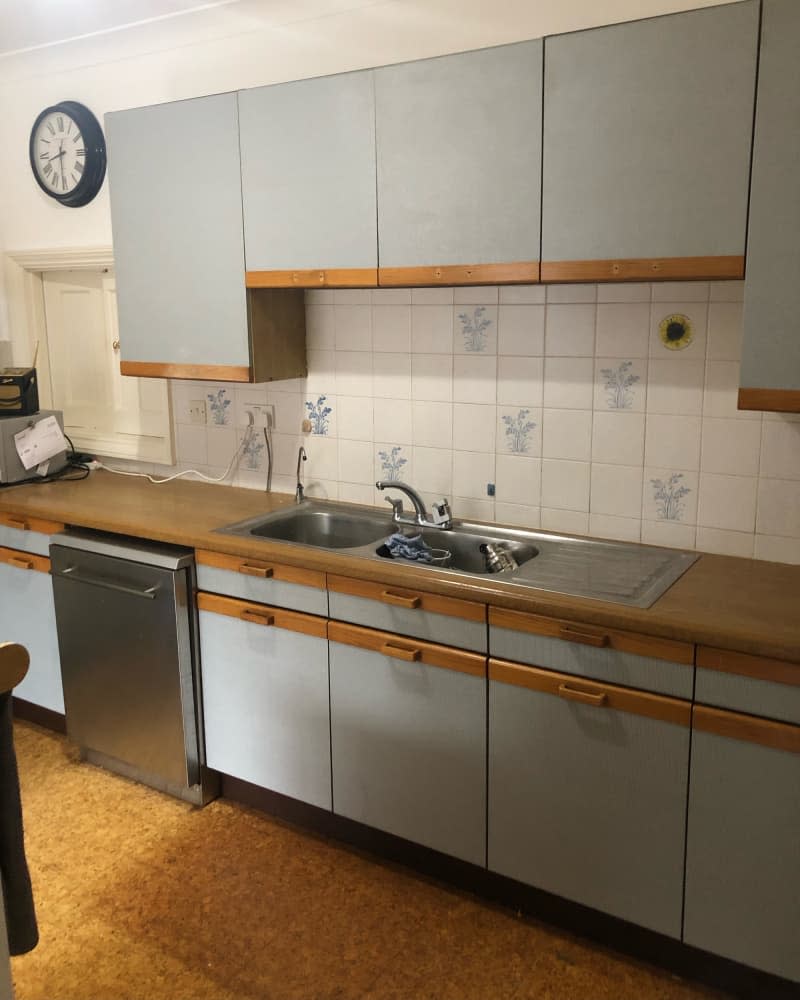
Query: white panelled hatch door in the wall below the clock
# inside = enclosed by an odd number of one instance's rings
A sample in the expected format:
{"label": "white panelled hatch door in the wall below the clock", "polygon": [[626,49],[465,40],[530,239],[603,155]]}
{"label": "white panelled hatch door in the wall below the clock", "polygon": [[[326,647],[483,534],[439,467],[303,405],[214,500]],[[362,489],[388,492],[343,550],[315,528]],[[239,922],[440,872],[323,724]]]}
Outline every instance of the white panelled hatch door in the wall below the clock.
{"label": "white panelled hatch door in the wall below the clock", "polygon": [[112,274],[42,275],[52,405],[76,448],[151,462],[174,460],[164,379],[119,372],[116,282]]}

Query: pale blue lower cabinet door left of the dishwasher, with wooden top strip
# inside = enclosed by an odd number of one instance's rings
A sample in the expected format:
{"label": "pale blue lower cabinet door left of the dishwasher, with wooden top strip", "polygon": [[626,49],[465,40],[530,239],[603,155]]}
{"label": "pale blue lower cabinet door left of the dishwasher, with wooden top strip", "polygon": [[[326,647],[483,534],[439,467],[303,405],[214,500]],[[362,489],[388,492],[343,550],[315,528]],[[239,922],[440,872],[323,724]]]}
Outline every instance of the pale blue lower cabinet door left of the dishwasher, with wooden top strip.
{"label": "pale blue lower cabinet door left of the dishwasher, with wooden top strip", "polygon": [[31,658],[25,679],[14,688],[15,697],[63,715],[50,560],[0,548],[0,594],[2,641],[21,643]]}

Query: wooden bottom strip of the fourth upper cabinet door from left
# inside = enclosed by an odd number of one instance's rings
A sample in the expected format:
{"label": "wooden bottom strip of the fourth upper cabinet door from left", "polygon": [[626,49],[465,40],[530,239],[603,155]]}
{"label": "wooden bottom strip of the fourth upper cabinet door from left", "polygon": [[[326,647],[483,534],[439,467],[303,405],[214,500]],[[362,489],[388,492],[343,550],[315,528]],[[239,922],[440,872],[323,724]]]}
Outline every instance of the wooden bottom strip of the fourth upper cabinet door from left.
{"label": "wooden bottom strip of the fourth upper cabinet door from left", "polygon": [[630,257],[621,260],[542,261],[544,281],[683,281],[744,277],[744,257]]}

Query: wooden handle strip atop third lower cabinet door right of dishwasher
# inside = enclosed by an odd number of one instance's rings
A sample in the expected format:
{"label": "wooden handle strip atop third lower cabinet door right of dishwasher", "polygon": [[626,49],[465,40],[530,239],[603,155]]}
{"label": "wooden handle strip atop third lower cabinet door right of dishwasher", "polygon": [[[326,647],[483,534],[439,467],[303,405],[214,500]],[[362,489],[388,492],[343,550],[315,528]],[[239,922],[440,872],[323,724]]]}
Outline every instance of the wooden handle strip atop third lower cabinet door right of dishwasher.
{"label": "wooden handle strip atop third lower cabinet door right of dishwasher", "polygon": [[[527,688],[530,691],[542,691],[561,698],[572,695],[570,700],[574,701],[578,700],[575,695],[583,694],[587,696],[587,703],[590,698],[595,701],[590,707],[599,711],[613,709],[627,712],[629,715],[641,715],[646,719],[657,719],[659,722],[672,722],[687,727],[691,721],[692,705],[688,701],[619,687],[616,684],[598,684],[596,681],[588,681],[572,674],[559,674],[554,670],[526,667],[520,663],[509,663],[507,660],[489,660],[489,680],[500,684],[513,684],[515,687]],[[561,690],[562,688],[566,688],[566,692]]]}

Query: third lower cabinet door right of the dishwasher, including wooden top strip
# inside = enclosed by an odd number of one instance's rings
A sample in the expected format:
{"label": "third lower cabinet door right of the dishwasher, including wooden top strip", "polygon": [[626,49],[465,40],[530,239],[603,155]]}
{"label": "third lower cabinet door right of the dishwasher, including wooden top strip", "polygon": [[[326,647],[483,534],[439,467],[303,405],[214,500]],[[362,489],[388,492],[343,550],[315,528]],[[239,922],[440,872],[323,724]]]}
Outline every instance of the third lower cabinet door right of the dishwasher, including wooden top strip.
{"label": "third lower cabinet door right of the dishwasher, including wooden top strip", "polygon": [[688,702],[489,661],[489,869],[680,937]]}

